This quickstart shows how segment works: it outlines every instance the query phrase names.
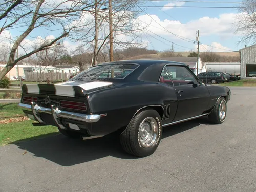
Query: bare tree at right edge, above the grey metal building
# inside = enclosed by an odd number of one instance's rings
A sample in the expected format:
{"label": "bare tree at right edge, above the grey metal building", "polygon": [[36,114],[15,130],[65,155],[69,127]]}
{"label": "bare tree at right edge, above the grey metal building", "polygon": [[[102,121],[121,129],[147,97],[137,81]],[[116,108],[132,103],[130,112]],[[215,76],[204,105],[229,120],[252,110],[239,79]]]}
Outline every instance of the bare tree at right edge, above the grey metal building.
{"label": "bare tree at right edge, above the grey metal building", "polygon": [[239,44],[256,42],[256,0],[242,0],[238,9],[235,33],[241,36]]}

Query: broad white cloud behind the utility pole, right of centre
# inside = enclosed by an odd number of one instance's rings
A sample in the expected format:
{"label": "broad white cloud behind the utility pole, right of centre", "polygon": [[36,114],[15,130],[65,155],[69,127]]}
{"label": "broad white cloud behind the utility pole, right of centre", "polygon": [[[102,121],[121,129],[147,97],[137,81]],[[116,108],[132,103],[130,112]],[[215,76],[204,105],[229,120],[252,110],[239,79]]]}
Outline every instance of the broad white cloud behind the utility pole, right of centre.
{"label": "broad white cloud behind the utility pole, right of centre", "polygon": [[[152,18],[153,19],[152,19]],[[221,14],[219,17],[202,17],[198,20],[191,20],[187,23],[182,23],[179,20],[160,20],[157,15],[141,15],[138,19],[142,22],[142,25],[149,26],[145,30],[146,33],[155,36],[153,33],[167,38],[174,42],[185,42],[180,38],[188,38],[196,41],[196,31],[200,30],[200,40],[203,37],[221,38],[226,40],[234,36],[233,23],[236,19],[236,14],[226,13]],[[160,25],[159,25],[160,24]],[[162,26],[162,27],[161,27]],[[151,33],[153,32],[153,33]],[[177,36],[171,34],[176,34]],[[155,36],[160,39],[159,37]],[[179,38],[180,37],[180,38]],[[183,38],[183,39],[185,39]],[[185,40],[188,40],[185,39]],[[162,39],[161,39],[162,40]],[[189,41],[189,40],[188,40]],[[180,44],[180,43],[179,43]],[[192,46],[192,45],[191,45]],[[194,46],[193,46],[194,47]]]}

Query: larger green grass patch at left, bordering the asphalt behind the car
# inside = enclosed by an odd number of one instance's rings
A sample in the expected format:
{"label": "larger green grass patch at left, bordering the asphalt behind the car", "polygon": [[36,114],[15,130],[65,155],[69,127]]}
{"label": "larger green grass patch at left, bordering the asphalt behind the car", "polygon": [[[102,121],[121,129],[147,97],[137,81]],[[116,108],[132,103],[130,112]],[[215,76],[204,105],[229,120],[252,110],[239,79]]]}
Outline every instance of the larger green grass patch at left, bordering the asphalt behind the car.
{"label": "larger green grass patch at left, bordering the asphalt behind the car", "polygon": [[33,126],[32,120],[0,124],[0,146],[58,134],[54,126]]}

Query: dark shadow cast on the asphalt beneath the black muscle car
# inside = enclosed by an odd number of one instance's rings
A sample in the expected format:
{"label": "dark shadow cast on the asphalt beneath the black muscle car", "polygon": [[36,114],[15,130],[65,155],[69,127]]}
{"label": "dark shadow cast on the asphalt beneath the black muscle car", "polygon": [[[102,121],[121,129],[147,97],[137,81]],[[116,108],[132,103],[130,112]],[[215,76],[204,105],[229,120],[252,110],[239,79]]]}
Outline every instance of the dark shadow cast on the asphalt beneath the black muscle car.
{"label": "dark shadow cast on the asphalt beneath the black muscle car", "polygon": [[[200,124],[209,124],[203,118],[164,127],[162,139],[193,129]],[[107,156],[121,159],[136,159],[126,154],[115,134],[89,140],[74,140],[61,134],[39,138],[36,140],[15,143],[20,149],[57,163],[61,166],[72,166]]]}

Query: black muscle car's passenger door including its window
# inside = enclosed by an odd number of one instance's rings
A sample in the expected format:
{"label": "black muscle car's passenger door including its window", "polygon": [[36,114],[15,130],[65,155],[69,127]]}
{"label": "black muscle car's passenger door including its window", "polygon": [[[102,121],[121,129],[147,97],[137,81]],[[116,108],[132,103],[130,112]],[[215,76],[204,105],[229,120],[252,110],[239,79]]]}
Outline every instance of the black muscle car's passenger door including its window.
{"label": "black muscle car's passenger door including its window", "polygon": [[173,122],[202,115],[210,101],[205,84],[199,83],[196,75],[185,65],[168,65],[166,69],[172,73],[178,100]]}

